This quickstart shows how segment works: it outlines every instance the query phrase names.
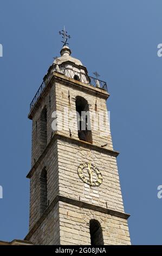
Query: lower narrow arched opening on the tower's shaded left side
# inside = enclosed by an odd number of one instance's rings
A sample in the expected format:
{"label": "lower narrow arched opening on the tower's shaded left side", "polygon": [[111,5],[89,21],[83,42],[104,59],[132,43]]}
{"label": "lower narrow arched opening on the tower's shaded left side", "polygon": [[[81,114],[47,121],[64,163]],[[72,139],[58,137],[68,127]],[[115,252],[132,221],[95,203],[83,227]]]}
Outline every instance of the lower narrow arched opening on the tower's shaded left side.
{"label": "lower narrow arched opening on the tower's shaded left side", "polygon": [[41,192],[40,213],[42,215],[47,208],[47,170],[46,168],[44,168],[41,173],[40,192]]}

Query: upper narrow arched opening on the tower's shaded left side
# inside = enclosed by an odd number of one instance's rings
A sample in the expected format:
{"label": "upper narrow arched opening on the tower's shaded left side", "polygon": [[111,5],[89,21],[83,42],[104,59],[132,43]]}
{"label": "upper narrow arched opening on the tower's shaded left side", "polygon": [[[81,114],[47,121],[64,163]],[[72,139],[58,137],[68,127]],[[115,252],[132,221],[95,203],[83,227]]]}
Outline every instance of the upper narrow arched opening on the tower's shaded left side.
{"label": "upper narrow arched opening on the tower's shaded left side", "polygon": [[47,109],[43,108],[40,118],[40,148],[41,153],[47,146]]}

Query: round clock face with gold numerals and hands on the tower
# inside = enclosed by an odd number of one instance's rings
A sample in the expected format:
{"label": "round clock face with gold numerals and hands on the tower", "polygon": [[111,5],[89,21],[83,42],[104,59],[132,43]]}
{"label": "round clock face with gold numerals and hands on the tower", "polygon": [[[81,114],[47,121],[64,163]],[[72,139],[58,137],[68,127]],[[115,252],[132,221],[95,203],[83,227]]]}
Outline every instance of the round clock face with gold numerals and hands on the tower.
{"label": "round clock face with gold numerals and hands on the tower", "polygon": [[90,186],[100,186],[102,183],[102,174],[92,163],[81,163],[77,168],[77,173],[80,179]]}

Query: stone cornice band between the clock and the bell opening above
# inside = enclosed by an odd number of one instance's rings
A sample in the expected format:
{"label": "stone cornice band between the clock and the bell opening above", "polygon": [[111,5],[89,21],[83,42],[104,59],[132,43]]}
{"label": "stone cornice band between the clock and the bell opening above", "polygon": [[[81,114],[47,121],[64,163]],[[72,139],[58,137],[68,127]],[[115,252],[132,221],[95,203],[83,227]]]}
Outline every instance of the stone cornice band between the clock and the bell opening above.
{"label": "stone cornice band between the clock and the bell opening above", "polygon": [[85,141],[80,141],[80,139],[70,138],[70,137],[61,135],[59,133],[55,133],[54,136],[51,138],[51,141],[48,143],[46,149],[44,149],[42,155],[35,162],[34,166],[30,169],[29,173],[27,174],[27,178],[31,178],[31,176],[33,175],[33,173],[34,173],[35,169],[37,168],[38,164],[41,162],[43,157],[48,153],[48,150],[50,149],[51,145],[53,145],[53,143],[56,141],[56,139],[61,139],[62,141],[67,141],[67,142],[72,143],[72,144],[81,145],[82,147],[93,149],[93,150],[96,150],[96,151],[99,151],[101,153],[105,153],[105,154],[108,154],[108,155],[111,155],[111,156],[114,156],[114,157],[119,155],[118,151],[114,151],[112,149],[102,148],[102,147],[99,147],[98,145],[95,145],[95,144],[91,144],[91,143],[88,143],[88,142],[85,142]]}

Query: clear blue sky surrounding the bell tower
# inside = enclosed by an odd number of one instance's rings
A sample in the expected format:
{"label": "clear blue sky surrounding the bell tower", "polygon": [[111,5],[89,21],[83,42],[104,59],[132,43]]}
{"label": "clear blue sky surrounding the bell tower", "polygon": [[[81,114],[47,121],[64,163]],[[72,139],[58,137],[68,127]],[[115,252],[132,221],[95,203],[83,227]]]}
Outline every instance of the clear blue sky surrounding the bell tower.
{"label": "clear blue sky surrounding the bell tower", "polygon": [[162,2],[159,0],[0,1],[0,240],[28,233],[29,104],[66,25],[72,55],[108,84],[114,149],[134,245],[162,244]]}

